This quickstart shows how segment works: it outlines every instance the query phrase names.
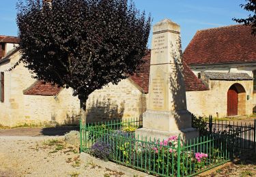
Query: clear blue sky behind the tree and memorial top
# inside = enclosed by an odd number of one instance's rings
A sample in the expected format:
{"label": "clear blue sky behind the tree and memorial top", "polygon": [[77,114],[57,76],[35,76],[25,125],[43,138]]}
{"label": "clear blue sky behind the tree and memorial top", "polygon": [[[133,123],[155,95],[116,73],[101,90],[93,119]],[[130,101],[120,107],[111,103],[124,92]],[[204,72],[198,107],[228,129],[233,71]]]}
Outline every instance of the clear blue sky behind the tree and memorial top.
{"label": "clear blue sky behind the tree and memorial top", "polygon": [[[0,0],[0,35],[18,35],[16,26],[16,2]],[[236,25],[232,18],[244,18],[248,12],[242,10],[245,0],[134,0],[137,9],[151,14],[152,25],[169,18],[181,27],[184,50],[197,30]],[[152,33],[148,47],[151,48]]]}

